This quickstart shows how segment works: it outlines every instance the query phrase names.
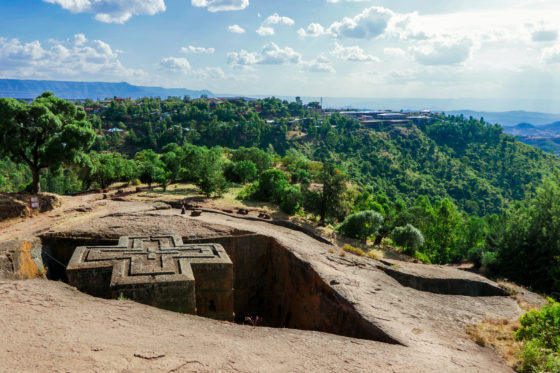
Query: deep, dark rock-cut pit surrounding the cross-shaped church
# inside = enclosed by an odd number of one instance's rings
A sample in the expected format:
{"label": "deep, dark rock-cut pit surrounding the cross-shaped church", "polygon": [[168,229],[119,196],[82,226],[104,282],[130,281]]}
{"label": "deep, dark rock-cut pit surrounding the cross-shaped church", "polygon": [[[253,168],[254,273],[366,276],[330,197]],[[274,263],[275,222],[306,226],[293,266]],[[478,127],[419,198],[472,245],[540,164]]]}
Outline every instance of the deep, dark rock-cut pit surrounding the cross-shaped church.
{"label": "deep, dark rock-cut pit surrounding the cross-shaped church", "polygon": [[[43,261],[52,280],[66,281],[66,265],[78,246],[114,245],[118,237],[41,236]],[[234,271],[235,321],[260,320],[258,325],[314,330],[391,344],[399,341],[366,320],[344,297],[325,283],[311,265],[276,239],[257,234],[189,239],[219,243]]]}

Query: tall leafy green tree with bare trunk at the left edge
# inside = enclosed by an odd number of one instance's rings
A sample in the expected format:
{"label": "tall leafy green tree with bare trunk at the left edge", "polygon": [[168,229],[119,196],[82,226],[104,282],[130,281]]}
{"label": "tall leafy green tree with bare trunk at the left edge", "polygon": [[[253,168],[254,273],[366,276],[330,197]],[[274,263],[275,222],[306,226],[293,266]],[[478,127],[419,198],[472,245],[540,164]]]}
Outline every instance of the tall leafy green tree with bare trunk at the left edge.
{"label": "tall leafy green tree with bare trunk at the left edge", "polygon": [[33,176],[31,191],[41,192],[40,171],[77,162],[95,140],[86,113],[45,92],[32,103],[0,98],[0,153],[26,163]]}

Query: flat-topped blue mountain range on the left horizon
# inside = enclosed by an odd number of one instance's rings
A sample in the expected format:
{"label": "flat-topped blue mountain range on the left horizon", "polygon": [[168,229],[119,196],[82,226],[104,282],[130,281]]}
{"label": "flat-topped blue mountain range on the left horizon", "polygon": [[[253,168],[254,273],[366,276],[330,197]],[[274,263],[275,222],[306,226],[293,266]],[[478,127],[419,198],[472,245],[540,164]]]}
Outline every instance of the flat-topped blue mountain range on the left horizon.
{"label": "flat-topped blue mountain range on the left horizon", "polygon": [[54,80],[0,79],[0,97],[31,99],[45,91],[66,99],[105,99],[109,97],[162,97],[189,96],[192,98],[214,94],[207,90],[182,88],[143,87],[128,83],[63,82]]}

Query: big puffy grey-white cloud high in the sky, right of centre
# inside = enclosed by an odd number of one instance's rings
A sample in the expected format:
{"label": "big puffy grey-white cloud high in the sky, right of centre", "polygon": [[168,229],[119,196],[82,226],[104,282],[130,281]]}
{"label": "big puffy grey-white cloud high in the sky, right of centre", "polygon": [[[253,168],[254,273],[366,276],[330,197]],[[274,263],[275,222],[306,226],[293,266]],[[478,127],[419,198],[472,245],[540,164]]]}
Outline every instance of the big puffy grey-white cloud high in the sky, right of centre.
{"label": "big puffy grey-white cloud high in the sky, right of centre", "polygon": [[353,18],[344,17],[342,21],[334,22],[327,32],[334,37],[373,39],[385,32],[393,16],[391,10],[373,6]]}

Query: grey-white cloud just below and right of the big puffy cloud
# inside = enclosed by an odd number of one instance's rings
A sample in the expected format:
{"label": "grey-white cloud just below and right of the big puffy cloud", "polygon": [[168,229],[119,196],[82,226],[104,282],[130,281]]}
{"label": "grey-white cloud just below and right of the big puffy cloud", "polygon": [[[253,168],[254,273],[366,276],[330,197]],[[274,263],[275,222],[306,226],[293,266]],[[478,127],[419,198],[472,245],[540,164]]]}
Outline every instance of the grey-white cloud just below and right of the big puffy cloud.
{"label": "grey-white cloud just below and right of the big puffy cloud", "polygon": [[473,47],[473,41],[465,37],[433,40],[411,50],[416,62],[422,65],[456,65],[470,57]]}

